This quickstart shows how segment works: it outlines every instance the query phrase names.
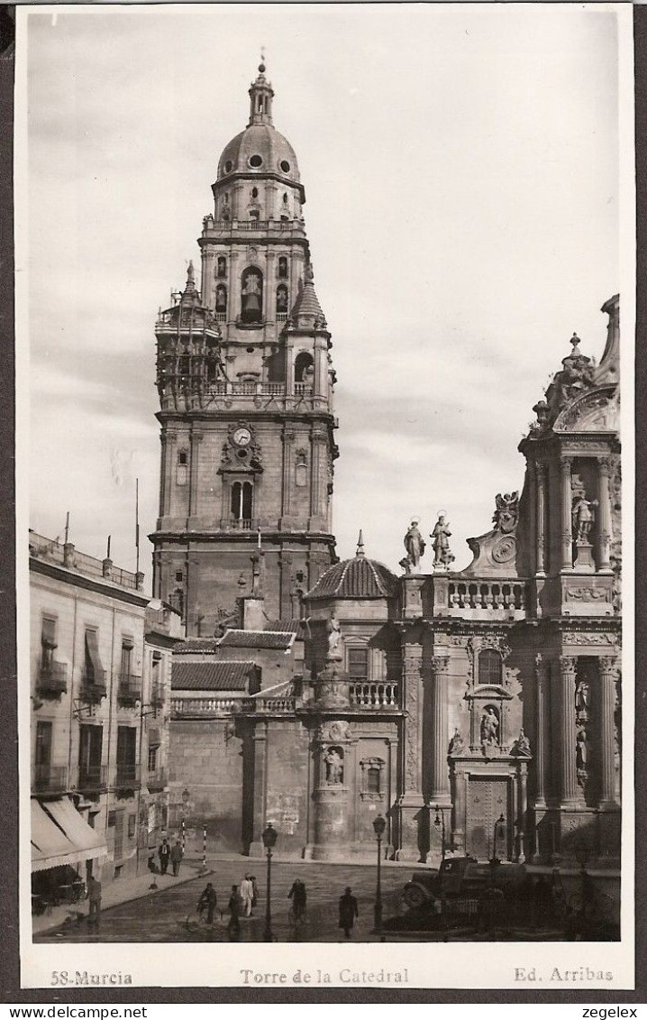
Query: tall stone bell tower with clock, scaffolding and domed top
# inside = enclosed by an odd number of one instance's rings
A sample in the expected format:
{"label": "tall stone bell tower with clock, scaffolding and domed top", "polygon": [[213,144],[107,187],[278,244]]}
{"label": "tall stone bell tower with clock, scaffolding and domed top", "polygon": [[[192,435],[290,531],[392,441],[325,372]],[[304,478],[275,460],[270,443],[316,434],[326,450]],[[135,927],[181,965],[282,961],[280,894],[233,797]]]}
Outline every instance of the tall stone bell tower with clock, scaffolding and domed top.
{"label": "tall stone bell tower with clock, scaffolding and domed top", "polygon": [[313,282],[294,152],[272,123],[259,67],[250,121],[225,147],[213,213],[184,292],[160,312],[157,388],[160,515],[154,591],[206,636],[265,553],[268,619],[300,614],[301,595],[336,561],[331,533],[334,371]]}

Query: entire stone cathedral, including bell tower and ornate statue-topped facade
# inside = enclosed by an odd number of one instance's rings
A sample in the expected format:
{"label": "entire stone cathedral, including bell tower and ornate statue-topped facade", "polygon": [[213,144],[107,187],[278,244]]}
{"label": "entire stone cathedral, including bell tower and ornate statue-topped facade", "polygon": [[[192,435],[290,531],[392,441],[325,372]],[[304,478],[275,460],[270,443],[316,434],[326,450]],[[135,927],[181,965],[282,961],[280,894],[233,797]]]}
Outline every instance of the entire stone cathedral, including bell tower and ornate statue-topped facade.
{"label": "entire stone cathedral, including bell tower and ornate statue-topped facade", "polygon": [[160,313],[154,594],[173,654],[175,822],[312,860],[617,863],[618,298],[599,363],[574,336],[520,445],[523,491],[453,571],[412,521],[399,574],[337,561],[335,381],[295,154],[265,67],[203,221],[201,288]]}

